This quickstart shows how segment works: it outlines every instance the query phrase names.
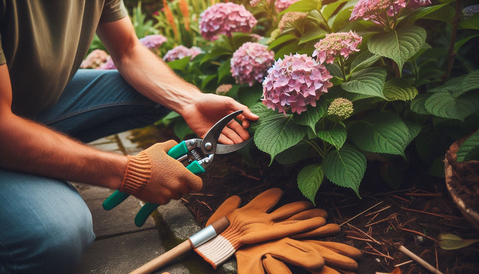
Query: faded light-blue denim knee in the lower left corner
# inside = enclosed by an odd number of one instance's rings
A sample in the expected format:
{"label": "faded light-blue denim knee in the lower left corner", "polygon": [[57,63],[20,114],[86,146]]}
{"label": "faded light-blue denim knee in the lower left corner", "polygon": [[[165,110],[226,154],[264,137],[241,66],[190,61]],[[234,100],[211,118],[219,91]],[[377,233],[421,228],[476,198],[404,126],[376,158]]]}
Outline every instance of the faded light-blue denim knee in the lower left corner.
{"label": "faded light-blue denim knee in the lower left corner", "polygon": [[0,184],[0,274],[71,273],[95,239],[78,191],[1,168]]}

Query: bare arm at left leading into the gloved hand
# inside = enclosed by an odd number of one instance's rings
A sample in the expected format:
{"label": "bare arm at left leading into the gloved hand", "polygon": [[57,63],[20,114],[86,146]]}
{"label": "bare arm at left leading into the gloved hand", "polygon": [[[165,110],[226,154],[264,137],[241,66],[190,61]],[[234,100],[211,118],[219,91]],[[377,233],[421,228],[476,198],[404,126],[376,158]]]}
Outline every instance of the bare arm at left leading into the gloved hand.
{"label": "bare arm at left leading into the gloved hand", "polygon": [[0,167],[118,189],[126,156],[104,152],[11,112],[7,65],[0,65]]}

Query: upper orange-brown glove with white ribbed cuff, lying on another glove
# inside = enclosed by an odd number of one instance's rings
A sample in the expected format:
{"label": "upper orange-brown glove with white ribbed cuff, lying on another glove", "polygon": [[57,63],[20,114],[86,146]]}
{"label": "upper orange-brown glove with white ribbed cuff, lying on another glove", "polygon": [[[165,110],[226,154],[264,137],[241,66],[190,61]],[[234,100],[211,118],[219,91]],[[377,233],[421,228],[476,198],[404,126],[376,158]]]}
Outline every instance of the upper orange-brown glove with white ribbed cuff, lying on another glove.
{"label": "upper orange-brown glove with white ribbed cuff, lying on another glove", "polygon": [[247,205],[238,208],[241,199],[229,197],[213,214],[211,220],[227,216],[231,225],[220,235],[194,249],[213,268],[226,261],[244,244],[284,238],[326,224],[320,209],[303,201],[286,204],[269,213],[283,196],[274,188],[262,192]]}

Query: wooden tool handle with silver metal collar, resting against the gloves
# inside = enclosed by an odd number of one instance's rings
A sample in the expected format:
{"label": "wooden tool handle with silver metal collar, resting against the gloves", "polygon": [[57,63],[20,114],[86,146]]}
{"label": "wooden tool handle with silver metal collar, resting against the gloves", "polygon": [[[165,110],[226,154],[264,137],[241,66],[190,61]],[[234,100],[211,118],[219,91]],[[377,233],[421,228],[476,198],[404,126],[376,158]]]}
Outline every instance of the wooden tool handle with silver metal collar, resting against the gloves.
{"label": "wooden tool handle with silver metal collar, resting against the gloves", "polygon": [[153,271],[165,266],[174,259],[178,258],[182,254],[197,248],[207,242],[208,240],[214,238],[219,233],[223,232],[229,226],[229,221],[227,217],[218,219],[213,224],[206,226],[202,230],[196,232],[193,236],[188,238],[186,241],[172,248],[171,250],[166,251],[161,254],[159,257],[151,260],[150,262],[145,263],[141,267],[132,271],[130,274],[149,274]]}

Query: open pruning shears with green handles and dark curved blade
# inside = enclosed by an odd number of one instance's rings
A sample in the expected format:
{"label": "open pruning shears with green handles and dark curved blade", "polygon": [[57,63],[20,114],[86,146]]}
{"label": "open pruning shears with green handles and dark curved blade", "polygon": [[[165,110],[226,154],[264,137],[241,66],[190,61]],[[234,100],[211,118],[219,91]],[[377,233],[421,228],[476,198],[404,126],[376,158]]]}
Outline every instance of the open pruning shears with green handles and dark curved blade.
{"label": "open pruning shears with green handles and dark curved blade", "polygon": [[[193,174],[204,173],[205,169],[211,167],[213,164],[213,159],[215,154],[226,154],[233,151],[236,151],[249,142],[249,140],[225,145],[218,144],[218,138],[223,131],[223,128],[228,125],[228,123],[234,119],[236,116],[241,114],[242,110],[237,110],[220,119],[205,135],[203,139],[190,139],[182,141],[176,146],[172,147],[168,151],[168,155],[174,159],[180,161],[184,167],[186,167]],[[125,201],[130,194],[126,192],[120,192],[116,190],[113,194],[110,195],[104,202],[103,208],[105,210],[111,210],[118,204]],[[135,225],[141,227],[145,224],[148,216],[158,207],[158,203],[146,203],[137,213],[135,217]]]}

